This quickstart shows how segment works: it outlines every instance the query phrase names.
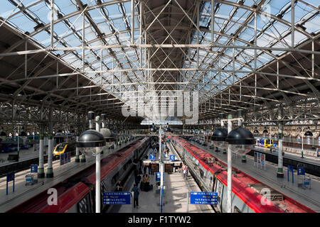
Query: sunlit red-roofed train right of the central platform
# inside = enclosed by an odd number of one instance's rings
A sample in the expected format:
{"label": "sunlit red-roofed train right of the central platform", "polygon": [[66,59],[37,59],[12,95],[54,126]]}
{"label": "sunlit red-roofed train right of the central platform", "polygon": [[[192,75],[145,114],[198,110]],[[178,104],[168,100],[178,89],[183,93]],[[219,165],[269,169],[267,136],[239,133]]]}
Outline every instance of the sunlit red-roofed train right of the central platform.
{"label": "sunlit red-roofed train right of the central platform", "polygon": [[[171,141],[203,191],[218,192],[216,208],[219,212],[226,212],[227,164],[182,138],[172,137]],[[232,178],[233,213],[315,213],[235,167]]]}

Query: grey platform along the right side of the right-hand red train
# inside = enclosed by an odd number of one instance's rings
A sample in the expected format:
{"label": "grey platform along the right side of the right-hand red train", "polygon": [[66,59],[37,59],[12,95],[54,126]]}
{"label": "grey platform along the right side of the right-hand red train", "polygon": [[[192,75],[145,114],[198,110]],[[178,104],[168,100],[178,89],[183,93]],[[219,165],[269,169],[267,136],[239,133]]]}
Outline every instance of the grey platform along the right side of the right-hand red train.
{"label": "grey platform along the right side of the right-hand red train", "polygon": [[[227,163],[227,154],[220,152],[215,152],[206,146],[199,145],[196,142],[189,141],[189,143],[195,145],[198,148],[210,153],[211,155],[217,157],[223,162]],[[287,153],[286,153],[287,155]],[[245,172],[247,175],[254,177],[260,182],[272,187],[273,189],[281,192],[282,194],[289,196],[290,198],[298,201],[310,209],[316,212],[320,212],[320,177],[315,177],[306,174],[306,177],[311,178],[311,188],[298,187],[298,176],[297,170],[294,170],[294,183],[292,183],[292,174],[289,175],[289,182],[287,177],[287,167],[283,167],[284,178],[277,177],[277,164],[266,161],[266,170],[261,170],[260,168],[253,165],[254,157],[246,155],[247,162],[241,162],[240,155],[233,155],[233,167],[238,170]]]}

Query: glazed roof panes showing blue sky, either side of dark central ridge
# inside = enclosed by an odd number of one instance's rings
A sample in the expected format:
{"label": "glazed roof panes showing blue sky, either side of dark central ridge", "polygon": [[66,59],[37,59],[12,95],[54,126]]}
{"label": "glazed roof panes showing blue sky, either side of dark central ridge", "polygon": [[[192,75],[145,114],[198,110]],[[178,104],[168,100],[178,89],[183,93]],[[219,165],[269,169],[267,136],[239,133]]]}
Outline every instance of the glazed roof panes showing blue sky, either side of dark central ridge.
{"label": "glazed roof panes showing blue sky, either side of dark central ridge", "polygon": [[[64,47],[82,47],[82,11],[78,10],[78,2],[75,0],[55,0],[54,19],[54,46],[55,48]],[[137,83],[143,84],[146,77],[145,70],[140,68],[140,50],[128,47],[131,43],[131,24],[132,12],[131,1],[107,1],[107,0],[81,0],[82,6],[90,13],[90,18],[85,17],[85,45],[124,45],[123,47],[85,50],[85,71],[86,74],[95,83],[102,84],[104,88],[112,92],[117,97],[121,97],[122,92],[137,90]],[[241,4],[242,3],[242,4]],[[104,4],[102,7],[101,4]],[[164,3],[166,4],[166,3]],[[235,45],[247,47],[252,45],[255,40],[255,17],[253,16],[252,6],[260,5],[261,11],[257,12],[257,46],[264,48],[290,48],[292,46],[291,35],[291,1],[266,0],[266,1],[223,1],[215,4],[215,40],[218,45]],[[320,16],[319,0],[297,1],[294,4],[294,24],[303,28],[294,32],[294,46],[304,42],[311,37],[311,34],[319,33]],[[135,8],[134,20],[134,39],[140,43],[138,15],[139,5]],[[201,44],[210,44],[211,33],[211,1],[201,1],[199,26],[199,42]],[[159,12],[159,11],[157,11]],[[157,14],[157,13],[155,13]],[[281,15],[281,16],[280,16]],[[36,0],[4,0],[1,1],[0,16],[6,22],[16,27],[23,33],[30,33],[31,37],[43,47],[50,47],[50,1]],[[196,23],[196,18],[194,23]],[[95,23],[97,29],[104,34],[105,38],[101,40],[97,30],[92,26]],[[35,30],[35,27],[43,23],[48,25]],[[190,22],[191,24],[191,22]],[[146,25],[143,25],[144,29]],[[233,35],[238,33],[238,37],[233,39]],[[193,29],[190,37],[190,44],[198,42],[198,33]],[[144,48],[141,49],[141,55],[146,55]],[[191,89],[199,92],[201,102],[210,99],[210,96],[217,94],[221,90],[234,84],[239,79],[246,77],[248,72],[267,65],[274,60],[275,56],[282,55],[284,50],[257,50],[257,60],[255,62],[255,50],[247,48],[200,48],[197,53],[196,48],[188,48],[183,55],[183,68],[197,67],[197,54],[199,55],[199,71],[180,71],[183,77],[180,82],[183,84],[180,89]],[[223,53],[223,55],[219,55]],[[82,50],[56,51],[61,59],[72,65],[74,68],[82,69]],[[188,59],[191,56],[191,62]],[[100,60],[102,57],[102,62]],[[235,61],[233,61],[235,57]],[[146,64],[142,57],[142,66]],[[256,69],[255,69],[256,67]],[[116,70],[113,73],[107,72],[101,74],[94,71]],[[223,69],[224,72],[216,72]],[[127,70],[117,72],[117,70]],[[134,70],[134,71],[133,71]],[[202,71],[201,71],[202,70]],[[210,72],[209,70],[216,70]],[[233,72],[233,70],[237,72]],[[152,74],[153,72],[151,72]],[[117,83],[136,83],[124,86],[110,86]],[[196,84],[199,84],[196,86]],[[223,83],[223,84],[220,84]]]}

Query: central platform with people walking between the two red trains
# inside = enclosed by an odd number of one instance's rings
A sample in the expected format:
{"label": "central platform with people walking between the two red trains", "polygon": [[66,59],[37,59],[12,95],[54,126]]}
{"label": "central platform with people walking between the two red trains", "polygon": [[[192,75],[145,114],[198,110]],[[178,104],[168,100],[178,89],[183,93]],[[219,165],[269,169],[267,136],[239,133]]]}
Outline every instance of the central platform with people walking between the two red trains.
{"label": "central platform with people walking between the two red trains", "polygon": [[[161,153],[164,155],[164,153]],[[176,155],[169,151],[169,155]],[[163,160],[169,160],[169,155]],[[149,156],[149,153],[148,153]],[[178,155],[176,155],[178,157]],[[156,160],[159,160],[159,153],[156,153]],[[178,158],[179,160],[179,158]],[[146,171],[148,174],[148,170]],[[113,206],[110,212],[112,213],[160,213],[160,191],[156,188],[156,175],[149,175],[150,184],[154,185],[154,189],[149,192],[139,192],[139,208],[133,208],[131,205],[117,205]],[[134,184],[134,178],[128,182],[127,187],[124,185],[124,190],[131,192]],[[138,186],[139,187],[139,186]],[[173,173],[164,173],[164,195],[163,195],[163,213],[186,213],[187,212],[187,193],[201,192],[191,175],[188,179],[183,179],[183,173],[179,170]],[[189,213],[214,213],[209,205],[188,205]]]}

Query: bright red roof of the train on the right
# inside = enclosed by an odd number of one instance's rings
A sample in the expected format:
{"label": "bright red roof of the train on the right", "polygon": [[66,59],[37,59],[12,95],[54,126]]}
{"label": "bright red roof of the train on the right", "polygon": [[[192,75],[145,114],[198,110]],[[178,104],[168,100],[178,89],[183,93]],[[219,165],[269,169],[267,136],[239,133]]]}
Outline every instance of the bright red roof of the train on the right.
{"label": "bright red roof of the train on the right", "polygon": [[[188,141],[183,140],[181,138],[174,137],[174,139],[180,143],[186,150],[188,150],[193,157],[195,157],[199,163],[208,171],[210,171],[213,175],[215,175],[220,182],[227,186],[227,163],[219,160],[218,158],[206,153],[205,151],[201,150],[200,148],[188,143]],[[208,163],[208,157],[214,158],[215,162]],[[262,213],[282,213],[282,212],[297,212],[297,213],[314,213],[313,210],[309,209],[308,207],[304,206],[303,204],[299,204],[297,201],[289,198],[280,192],[268,187],[266,184],[258,181],[257,179],[251,177],[250,175],[241,172],[237,168],[233,167],[233,193],[238,196],[242,201],[247,204],[255,212],[262,212]],[[267,187],[270,189],[271,193],[276,195],[274,199],[270,201],[270,205],[266,204],[265,206],[261,205],[262,195],[259,193],[259,189],[261,187]],[[259,204],[259,205],[257,205]]]}

